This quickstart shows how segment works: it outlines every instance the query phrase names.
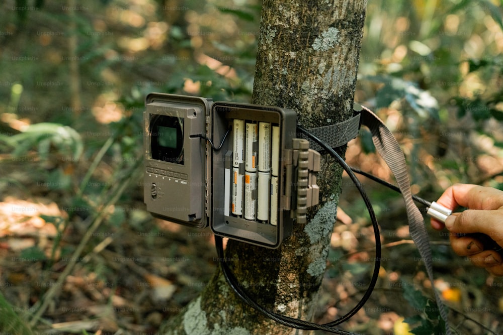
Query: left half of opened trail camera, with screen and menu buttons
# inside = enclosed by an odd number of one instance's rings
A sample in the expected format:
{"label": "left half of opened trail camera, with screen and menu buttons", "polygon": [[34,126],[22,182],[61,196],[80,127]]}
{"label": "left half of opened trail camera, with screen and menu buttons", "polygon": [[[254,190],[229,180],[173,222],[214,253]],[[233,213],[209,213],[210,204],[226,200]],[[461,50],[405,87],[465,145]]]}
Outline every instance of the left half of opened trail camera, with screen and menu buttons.
{"label": "left half of opened trail camera, with screen and menu buttons", "polygon": [[208,226],[204,135],[211,100],[151,93],[145,99],[144,202],[152,215],[196,228]]}

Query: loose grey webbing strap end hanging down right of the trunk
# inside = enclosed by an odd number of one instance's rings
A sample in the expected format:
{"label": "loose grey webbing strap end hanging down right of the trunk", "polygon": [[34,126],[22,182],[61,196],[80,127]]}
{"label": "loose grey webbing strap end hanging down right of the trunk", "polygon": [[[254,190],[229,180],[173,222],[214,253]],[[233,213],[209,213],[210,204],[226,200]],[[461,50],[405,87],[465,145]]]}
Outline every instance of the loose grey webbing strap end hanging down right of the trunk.
{"label": "loose grey webbing strap end hanging down right of the trunk", "polygon": [[447,320],[447,310],[445,309],[445,306],[440,299],[437,290],[435,289],[433,280],[433,265],[431,262],[432,250],[430,248],[430,240],[428,238],[428,233],[424,225],[423,215],[412,200],[410,181],[406,170],[405,156],[403,155],[403,152],[396,142],[393,134],[389,131],[388,128],[386,128],[384,123],[379,119],[377,115],[375,115],[370,109],[363,107],[361,116],[362,124],[370,129],[372,133],[372,140],[375,147],[377,148],[377,151],[382,156],[386,164],[388,164],[391,172],[393,172],[398,187],[402,192],[403,199],[405,200],[405,209],[407,210],[410,237],[417,246],[423,262],[425,263],[428,277],[432,282],[433,292],[435,293],[435,300],[437,301],[440,315],[445,321],[447,334],[451,334]]}

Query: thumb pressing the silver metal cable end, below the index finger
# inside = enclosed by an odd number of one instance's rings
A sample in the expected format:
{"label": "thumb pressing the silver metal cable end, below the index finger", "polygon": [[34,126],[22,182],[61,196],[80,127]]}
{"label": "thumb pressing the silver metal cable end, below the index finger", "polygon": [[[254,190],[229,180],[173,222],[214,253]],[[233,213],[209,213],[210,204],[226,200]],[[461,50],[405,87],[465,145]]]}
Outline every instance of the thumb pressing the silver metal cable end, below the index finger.
{"label": "thumb pressing the silver metal cable end, below the index finger", "polygon": [[467,209],[453,213],[445,220],[445,227],[452,233],[482,233],[503,247],[503,209]]}

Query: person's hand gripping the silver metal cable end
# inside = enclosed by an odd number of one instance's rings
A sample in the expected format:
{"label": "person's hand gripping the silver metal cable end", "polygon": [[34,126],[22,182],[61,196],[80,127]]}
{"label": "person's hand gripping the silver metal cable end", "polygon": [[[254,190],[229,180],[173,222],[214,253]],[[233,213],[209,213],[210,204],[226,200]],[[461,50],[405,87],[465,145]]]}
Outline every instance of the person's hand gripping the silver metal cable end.
{"label": "person's hand gripping the silver metal cable end", "polygon": [[492,187],[455,184],[445,190],[437,203],[455,209],[468,209],[449,215],[442,222],[432,219],[436,230],[447,228],[451,247],[495,276],[503,276],[503,259],[494,250],[503,247],[503,191]]}

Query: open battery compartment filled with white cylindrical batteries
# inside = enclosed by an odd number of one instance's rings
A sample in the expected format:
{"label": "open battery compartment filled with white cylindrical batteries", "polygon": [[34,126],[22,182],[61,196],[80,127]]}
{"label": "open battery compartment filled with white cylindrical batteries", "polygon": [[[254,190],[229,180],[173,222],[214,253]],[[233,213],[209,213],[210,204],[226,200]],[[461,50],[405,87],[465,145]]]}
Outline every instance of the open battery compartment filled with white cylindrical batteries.
{"label": "open battery compartment filled with white cylindrical batteries", "polygon": [[[288,193],[286,191],[286,184],[288,184],[288,182],[285,178],[287,162],[285,155],[287,150],[292,148],[292,139],[296,137],[295,111],[279,107],[215,102],[212,105],[211,115],[213,120],[211,122],[212,131],[210,133],[214,141],[218,141],[216,139],[222,139],[227,130],[230,129],[222,148],[218,151],[212,150],[211,157],[209,157],[212,170],[211,177],[208,178],[207,182],[211,183],[212,194],[209,194],[207,203],[211,207],[211,229],[219,236],[229,237],[263,247],[277,248],[281,244],[283,238],[291,234],[293,226],[293,219],[291,218],[290,211],[284,210],[283,208],[285,195]],[[236,131],[234,129],[234,126],[236,126],[234,120],[242,120],[244,127]],[[270,126],[268,135],[269,145],[266,149],[261,149],[260,145],[258,146],[256,151],[258,155],[258,161],[256,161],[257,168],[256,171],[254,171],[250,169],[249,166],[248,168],[245,167],[247,151],[246,125],[255,124],[260,131],[260,123],[266,123],[263,125]],[[273,161],[272,158],[273,126],[279,127],[279,135],[275,134],[275,137],[279,141],[277,144],[277,162]],[[235,143],[236,135],[239,135],[237,132],[241,131],[243,133],[241,136],[237,136],[237,141],[241,141],[240,138],[242,138],[242,142],[240,144]],[[260,138],[260,136],[261,134],[259,133],[258,137]],[[264,143],[261,144],[263,145]],[[239,149],[238,151],[242,150],[242,154],[239,153],[236,155],[234,150],[236,148]],[[248,154],[249,152],[250,151],[248,151]],[[264,156],[264,154],[268,156],[267,158],[270,162],[269,169],[264,166],[261,167],[261,155]],[[242,161],[239,160],[240,155],[242,155]],[[262,159],[264,160],[264,157]],[[276,160],[276,157],[274,159]],[[278,176],[273,175],[274,164],[278,164],[277,169],[274,169],[274,173],[278,174]],[[266,178],[266,174],[268,174],[267,191],[264,191],[264,182],[262,183],[261,191],[259,192],[258,190],[259,173],[262,174],[261,178]],[[236,187],[234,185],[235,175],[237,175],[238,178],[242,178],[240,181],[241,187]],[[246,212],[247,218],[245,218],[245,206],[249,209],[248,206],[250,205],[249,193],[247,193],[248,201],[245,199],[245,175],[251,176],[252,179],[254,175],[257,176],[257,190],[255,191],[257,209],[254,213],[255,217],[253,217],[248,210]],[[275,177],[277,177],[277,186],[274,183]],[[273,184],[271,184],[271,180],[273,180]],[[239,184],[239,181],[237,184]],[[278,191],[274,191],[271,187],[277,187]],[[236,189],[240,190],[240,194],[239,192],[237,192],[237,194],[235,193]],[[249,192],[249,189],[247,192]],[[271,194],[275,194],[276,196],[272,196],[271,198]],[[265,199],[265,196],[268,198]],[[277,206],[274,206],[274,203],[277,204]],[[271,206],[271,204],[273,204],[273,206]],[[241,207],[239,208],[239,206]],[[271,208],[273,208],[272,212]],[[275,223],[276,225],[274,225]]]}

